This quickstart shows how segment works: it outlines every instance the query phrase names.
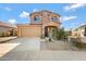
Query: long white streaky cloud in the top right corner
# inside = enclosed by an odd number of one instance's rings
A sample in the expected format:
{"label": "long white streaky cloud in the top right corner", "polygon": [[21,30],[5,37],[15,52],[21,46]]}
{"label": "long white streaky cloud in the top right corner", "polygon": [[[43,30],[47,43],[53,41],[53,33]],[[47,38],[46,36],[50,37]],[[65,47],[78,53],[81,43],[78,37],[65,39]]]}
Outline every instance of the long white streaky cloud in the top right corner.
{"label": "long white streaky cloud in the top right corner", "polygon": [[70,10],[75,10],[75,9],[79,9],[83,7],[86,7],[86,4],[85,3],[72,3],[70,5],[64,7],[64,10],[70,11]]}

